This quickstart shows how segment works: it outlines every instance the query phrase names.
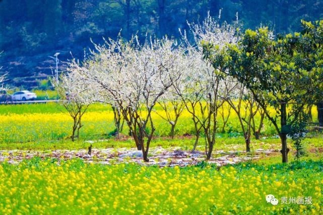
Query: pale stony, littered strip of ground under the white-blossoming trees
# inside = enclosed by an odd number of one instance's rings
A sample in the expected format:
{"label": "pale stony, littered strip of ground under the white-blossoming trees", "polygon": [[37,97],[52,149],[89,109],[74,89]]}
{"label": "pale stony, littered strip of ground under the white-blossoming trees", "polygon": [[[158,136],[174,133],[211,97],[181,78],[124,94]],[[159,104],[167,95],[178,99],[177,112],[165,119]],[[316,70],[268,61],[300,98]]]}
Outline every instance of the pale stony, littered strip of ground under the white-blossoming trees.
{"label": "pale stony, littered strip of ground under the white-blossoming trees", "polygon": [[[262,149],[258,148],[252,153],[236,150],[238,146],[232,145],[230,151],[215,150],[212,158],[208,161],[210,164],[218,166],[236,164],[251,159],[259,159],[261,156],[268,156],[272,153],[278,153],[277,149]],[[18,164],[23,159],[31,159],[33,157],[40,157],[42,159],[51,158],[57,160],[67,160],[79,157],[84,159],[87,163],[96,164],[119,164],[119,163],[138,163],[141,165],[158,165],[160,167],[172,166],[188,166],[197,165],[205,160],[205,152],[196,150],[191,152],[182,150],[180,147],[153,147],[149,150],[149,162],[144,163],[142,152],[136,148],[92,148],[91,154],[88,150],[0,150],[0,162],[8,162],[11,164]]]}

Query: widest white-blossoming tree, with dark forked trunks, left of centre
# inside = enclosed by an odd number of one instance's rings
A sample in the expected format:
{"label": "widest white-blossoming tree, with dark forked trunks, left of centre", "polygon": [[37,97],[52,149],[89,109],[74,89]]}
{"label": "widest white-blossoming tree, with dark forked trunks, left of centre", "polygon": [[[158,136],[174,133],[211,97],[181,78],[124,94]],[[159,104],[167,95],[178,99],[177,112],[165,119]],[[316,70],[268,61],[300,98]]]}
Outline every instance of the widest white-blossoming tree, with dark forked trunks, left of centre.
{"label": "widest white-blossoming tree, with dark forked trunks, left of centre", "polygon": [[168,38],[144,44],[136,37],[129,42],[109,39],[95,46],[86,69],[76,70],[87,83],[100,86],[101,95],[120,111],[145,162],[155,132],[152,111],[171,80],[188,67],[185,50],[176,46]]}

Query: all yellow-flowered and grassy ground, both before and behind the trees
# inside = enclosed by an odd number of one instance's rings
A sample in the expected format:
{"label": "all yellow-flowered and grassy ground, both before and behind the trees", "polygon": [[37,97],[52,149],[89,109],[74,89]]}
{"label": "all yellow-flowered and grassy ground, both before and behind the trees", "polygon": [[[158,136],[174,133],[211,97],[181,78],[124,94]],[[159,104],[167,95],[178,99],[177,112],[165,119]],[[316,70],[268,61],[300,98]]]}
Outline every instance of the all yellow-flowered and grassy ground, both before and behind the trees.
{"label": "all yellow-flowered and grassy ground, both before and behind the trees", "polygon": [[[160,107],[157,106],[156,111],[161,113]],[[312,113],[315,117],[316,110]],[[193,140],[185,136],[193,134],[194,130],[187,112],[176,127],[176,135],[181,136],[174,140],[164,138],[168,136],[169,124],[155,112],[153,117],[157,138],[151,150],[156,146],[162,146],[165,151],[170,146],[182,151],[191,149]],[[56,103],[0,105],[0,122],[0,149],[6,157],[5,162],[0,163],[0,214],[323,213],[320,151],[323,142],[319,133],[311,133],[304,140],[306,154],[302,161],[288,165],[280,164],[280,140],[273,137],[275,132],[266,121],[262,131],[265,139],[252,140],[251,150],[255,155],[255,149],[270,149],[271,154],[258,151],[257,159],[233,166],[202,162],[197,166],[160,168],[131,163],[130,158],[118,163],[117,149],[134,147],[134,142],[108,138],[114,129],[113,113],[108,105],[90,106],[83,119],[81,141],[76,142],[69,138],[70,116]],[[221,119],[219,124],[221,127]],[[230,152],[235,157],[246,156],[242,153],[245,146],[239,131],[237,119],[231,113],[226,133],[219,133],[215,150],[224,155]],[[127,132],[124,126],[122,133]],[[197,148],[200,151],[204,150],[203,141],[204,138],[200,138]],[[91,163],[97,159],[95,155],[90,160],[75,158],[76,149],[84,150],[90,144],[94,145],[94,154],[113,148],[110,151],[115,153],[116,163]],[[291,144],[290,147],[292,161],[294,149]],[[52,153],[57,149],[69,149],[72,156],[55,157]],[[28,158],[31,152],[42,158]],[[44,155],[46,153],[50,156]],[[19,154],[22,162],[15,158]],[[106,156],[110,154],[103,156],[103,162]],[[158,158],[158,154],[156,156]],[[6,160],[14,161],[15,165]],[[266,201],[269,194],[278,199],[278,205]],[[304,201],[295,203],[296,198]]]}

